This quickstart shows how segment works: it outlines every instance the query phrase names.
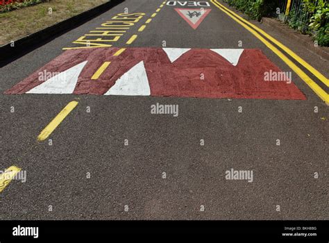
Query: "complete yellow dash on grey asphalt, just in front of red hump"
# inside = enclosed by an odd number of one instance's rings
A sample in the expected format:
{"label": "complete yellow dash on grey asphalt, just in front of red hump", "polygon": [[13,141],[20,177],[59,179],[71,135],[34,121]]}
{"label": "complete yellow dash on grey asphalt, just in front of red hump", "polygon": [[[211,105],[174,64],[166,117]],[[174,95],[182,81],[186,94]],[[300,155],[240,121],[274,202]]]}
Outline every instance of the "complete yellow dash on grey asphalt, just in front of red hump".
{"label": "complete yellow dash on grey asphalt, just in front of red hump", "polygon": [[69,115],[69,113],[76,108],[76,105],[78,105],[77,101],[71,101],[68,103],[67,106],[65,106],[65,108],[62,109],[62,111],[59,112],[58,115],[48,124],[48,126],[42,130],[40,135],[37,136],[37,140],[43,141],[49,137],[49,135],[51,135],[51,133],[58,127],[65,117],[67,117],[67,115]]}

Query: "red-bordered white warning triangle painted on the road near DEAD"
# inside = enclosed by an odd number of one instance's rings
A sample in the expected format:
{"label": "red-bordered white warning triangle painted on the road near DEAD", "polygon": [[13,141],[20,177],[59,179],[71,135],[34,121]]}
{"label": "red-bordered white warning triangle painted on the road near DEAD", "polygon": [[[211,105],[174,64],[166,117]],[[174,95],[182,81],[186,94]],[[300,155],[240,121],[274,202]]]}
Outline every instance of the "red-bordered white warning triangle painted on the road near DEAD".
{"label": "red-bordered white warning triangle painted on the road near DEAD", "polygon": [[185,19],[189,26],[196,29],[201,24],[203,19],[208,15],[211,9],[175,8],[175,10],[176,12],[178,12],[178,15]]}

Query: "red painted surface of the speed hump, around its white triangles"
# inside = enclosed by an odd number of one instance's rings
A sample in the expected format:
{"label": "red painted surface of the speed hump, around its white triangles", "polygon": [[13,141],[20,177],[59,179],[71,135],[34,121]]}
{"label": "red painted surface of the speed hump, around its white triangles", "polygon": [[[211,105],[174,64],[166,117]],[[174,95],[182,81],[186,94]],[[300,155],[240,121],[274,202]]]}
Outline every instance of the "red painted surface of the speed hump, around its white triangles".
{"label": "red painted surface of the speed hump, around its white triangles", "polygon": [[[6,94],[24,94],[40,85],[39,72],[64,72],[88,60],[74,94],[105,94],[118,78],[144,61],[151,96],[235,99],[301,99],[304,94],[294,83],[264,81],[265,72],[281,72],[262,51],[245,49],[237,66],[210,49],[191,49],[171,63],[161,48],[128,48],[113,56],[118,48],[76,49],[62,53],[18,83]],[[97,80],[91,77],[104,61],[110,66]],[[200,75],[205,79],[201,80]]]}

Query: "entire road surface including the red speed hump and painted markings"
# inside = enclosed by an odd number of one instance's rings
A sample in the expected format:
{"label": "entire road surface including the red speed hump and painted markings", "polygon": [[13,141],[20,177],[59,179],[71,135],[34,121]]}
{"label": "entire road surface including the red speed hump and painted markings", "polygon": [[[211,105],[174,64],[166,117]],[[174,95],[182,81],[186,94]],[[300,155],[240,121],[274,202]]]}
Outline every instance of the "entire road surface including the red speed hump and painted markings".
{"label": "entire road surface including the red speed hump and painted markings", "polygon": [[0,219],[328,219],[328,106],[240,23],[126,0],[2,67]]}

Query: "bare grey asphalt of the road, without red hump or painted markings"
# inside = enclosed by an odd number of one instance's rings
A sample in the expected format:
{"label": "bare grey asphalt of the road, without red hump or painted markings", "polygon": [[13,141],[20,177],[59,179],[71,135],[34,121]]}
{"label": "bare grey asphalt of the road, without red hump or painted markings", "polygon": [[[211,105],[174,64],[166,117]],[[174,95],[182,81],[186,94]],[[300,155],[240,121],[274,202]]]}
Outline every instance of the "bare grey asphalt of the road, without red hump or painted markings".
{"label": "bare grey asphalt of the road, without red hump or painted markings", "polygon": [[[161,4],[126,0],[0,69],[0,170],[26,171],[25,183],[13,180],[0,193],[0,219],[329,219],[329,110],[294,72],[306,100],[3,94],[126,8],[145,15],[113,47],[162,48],[165,41],[172,48],[237,49],[242,41],[292,71],[213,3],[195,30],[165,5],[138,32]],[[329,76],[328,60],[253,23]],[[74,100],[78,106],[38,142]],[[178,105],[178,117],[151,114],[155,103]],[[230,169],[253,171],[253,181],[227,180]]]}

